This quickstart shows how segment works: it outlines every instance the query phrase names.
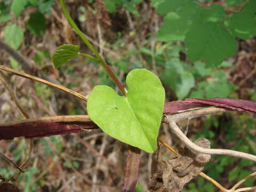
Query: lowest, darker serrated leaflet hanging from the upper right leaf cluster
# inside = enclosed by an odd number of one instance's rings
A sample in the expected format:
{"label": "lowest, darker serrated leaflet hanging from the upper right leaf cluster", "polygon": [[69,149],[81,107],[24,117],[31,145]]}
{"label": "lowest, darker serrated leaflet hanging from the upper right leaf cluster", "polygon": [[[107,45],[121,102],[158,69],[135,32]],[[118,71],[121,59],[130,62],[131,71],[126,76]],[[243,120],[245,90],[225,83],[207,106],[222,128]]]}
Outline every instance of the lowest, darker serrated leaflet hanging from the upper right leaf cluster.
{"label": "lowest, darker serrated leaflet hanging from the upper right leaf cluster", "polygon": [[194,22],[188,31],[185,43],[188,59],[205,60],[206,67],[218,66],[236,52],[236,39],[221,22]]}

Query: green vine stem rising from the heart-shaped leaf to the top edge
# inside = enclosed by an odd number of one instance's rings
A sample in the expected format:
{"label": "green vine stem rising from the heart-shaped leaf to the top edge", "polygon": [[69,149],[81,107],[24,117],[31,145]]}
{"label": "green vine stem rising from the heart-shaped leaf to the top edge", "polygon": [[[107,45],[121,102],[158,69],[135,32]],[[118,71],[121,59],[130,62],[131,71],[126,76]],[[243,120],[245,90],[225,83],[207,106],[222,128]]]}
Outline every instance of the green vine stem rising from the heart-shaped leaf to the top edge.
{"label": "green vine stem rising from the heart-shaped leaf to the top edge", "polygon": [[[98,53],[97,50],[95,50],[95,48],[92,46],[92,44],[88,41],[88,39],[84,36],[84,34],[82,33],[82,31],[77,27],[76,23],[73,21],[73,19],[71,18],[70,14],[68,13],[68,10],[65,6],[64,0],[60,0],[60,5],[62,8],[63,13],[65,14],[68,22],[70,23],[70,25],[75,29],[76,33],[79,35],[79,37],[82,38],[83,42],[89,47],[89,49],[95,54],[95,56],[98,59],[98,63],[107,71],[107,73],[109,74],[109,76],[113,79],[113,81],[115,82],[115,84],[118,86],[119,90],[122,92],[122,94],[124,96],[126,96],[125,90],[124,90],[124,86],[122,85],[121,82],[119,82],[118,78],[115,76],[115,74],[113,73],[113,71],[110,69],[110,67],[107,65],[107,63],[100,57],[100,54]],[[84,53],[83,53],[84,54]],[[79,55],[83,55],[82,53],[80,53]],[[88,57],[88,55],[83,55],[85,57]],[[92,56],[90,56],[92,57]],[[94,58],[94,57],[92,57]],[[95,59],[93,59],[95,60]]]}

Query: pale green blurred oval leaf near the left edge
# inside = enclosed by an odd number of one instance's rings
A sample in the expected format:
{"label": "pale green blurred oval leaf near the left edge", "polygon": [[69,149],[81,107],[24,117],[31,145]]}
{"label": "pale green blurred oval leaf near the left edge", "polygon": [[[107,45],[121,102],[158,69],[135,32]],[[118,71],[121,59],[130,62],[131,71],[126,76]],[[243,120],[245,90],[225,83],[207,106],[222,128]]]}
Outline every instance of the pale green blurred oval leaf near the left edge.
{"label": "pale green blurred oval leaf near the left edge", "polygon": [[13,49],[17,50],[24,38],[23,30],[16,24],[5,27],[4,39],[5,42]]}

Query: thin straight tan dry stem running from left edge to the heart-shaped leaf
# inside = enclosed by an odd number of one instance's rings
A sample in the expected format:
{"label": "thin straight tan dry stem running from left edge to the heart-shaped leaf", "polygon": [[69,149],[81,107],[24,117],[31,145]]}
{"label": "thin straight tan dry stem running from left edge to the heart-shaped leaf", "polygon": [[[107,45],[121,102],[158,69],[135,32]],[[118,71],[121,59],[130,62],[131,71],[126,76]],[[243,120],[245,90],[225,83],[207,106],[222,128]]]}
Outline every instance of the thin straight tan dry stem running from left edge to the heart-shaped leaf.
{"label": "thin straight tan dry stem running from left edge to the heart-shaped leaf", "polygon": [[74,95],[75,97],[78,97],[79,99],[82,99],[84,101],[87,101],[87,97],[84,97],[84,95],[80,94],[80,93],[77,93],[73,90],[70,90],[64,86],[61,86],[61,85],[58,85],[58,84],[55,84],[55,83],[52,83],[52,82],[49,82],[49,81],[46,81],[44,79],[41,79],[41,78],[38,78],[38,77],[35,77],[33,75],[29,75],[29,74],[26,74],[26,73],[23,73],[23,72],[20,72],[20,71],[17,71],[17,70],[14,70],[14,69],[11,69],[9,67],[5,67],[5,66],[0,66],[0,70],[2,71],[6,71],[8,73],[12,73],[14,75],[18,75],[18,76],[21,76],[21,77],[25,77],[25,78],[29,78],[29,79],[32,79],[33,81],[37,81],[37,82],[40,82],[40,83],[43,83],[45,85],[49,85],[51,87],[55,87],[59,90],[62,90],[62,91],[65,91],[67,93],[70,93],[72,95]]}

